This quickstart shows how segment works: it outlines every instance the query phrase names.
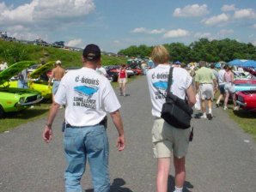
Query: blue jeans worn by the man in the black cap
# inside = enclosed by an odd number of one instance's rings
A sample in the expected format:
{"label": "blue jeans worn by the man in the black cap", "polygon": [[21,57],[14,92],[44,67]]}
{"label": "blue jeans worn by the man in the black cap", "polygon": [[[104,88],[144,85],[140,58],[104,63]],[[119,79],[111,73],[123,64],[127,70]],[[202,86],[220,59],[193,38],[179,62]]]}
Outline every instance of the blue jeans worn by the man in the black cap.
{"label": "blue jeans worn by the man in the black cap", "polygon": [[85,171],[86,160],[90,166],[94,192],[109,192],[108,171],[109,146],[103,125],[64,130],[65,191],[82,192],[80,180]]}

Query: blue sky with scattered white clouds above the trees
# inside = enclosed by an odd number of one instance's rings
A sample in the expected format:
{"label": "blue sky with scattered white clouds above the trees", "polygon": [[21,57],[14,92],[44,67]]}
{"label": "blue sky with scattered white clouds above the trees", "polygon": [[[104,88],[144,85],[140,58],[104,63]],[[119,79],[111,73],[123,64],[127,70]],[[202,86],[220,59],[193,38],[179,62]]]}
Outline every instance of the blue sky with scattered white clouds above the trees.
{"label": "blue sky with scattered white clouds above the trees", "polygon": [[256,0],[0,0],[0,31],[112,52],[200,38],[256,45]]}

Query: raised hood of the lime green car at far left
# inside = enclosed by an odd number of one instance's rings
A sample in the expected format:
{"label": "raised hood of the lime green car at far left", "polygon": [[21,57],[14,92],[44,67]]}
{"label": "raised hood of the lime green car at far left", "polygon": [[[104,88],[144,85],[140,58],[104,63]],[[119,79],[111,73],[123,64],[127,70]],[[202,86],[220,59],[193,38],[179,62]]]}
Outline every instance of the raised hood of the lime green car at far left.
{"label": "raised hood of the lime green car at far left", "polygon": [[8,69],[4,69],[0,73],[0,85],[2,85],[4,82],[9,81],[9,79],[20,73],[23,69],[27,69],[28,67],[34,65],[35,62],[33,61],[23,61],[14,63],[11,65]]}

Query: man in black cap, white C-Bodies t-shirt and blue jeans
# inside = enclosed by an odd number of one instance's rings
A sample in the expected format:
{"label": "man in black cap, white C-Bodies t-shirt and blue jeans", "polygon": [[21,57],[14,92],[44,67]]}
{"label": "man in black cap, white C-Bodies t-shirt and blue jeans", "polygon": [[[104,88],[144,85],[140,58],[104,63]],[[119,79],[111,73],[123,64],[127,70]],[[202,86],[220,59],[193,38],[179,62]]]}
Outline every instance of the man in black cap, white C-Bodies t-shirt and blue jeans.
{"label": "man in black cap, white C-Bodies t-shirt and blue jeans", "polygon": [[82,192],[80,180],[88,159],[94,192],[109,192],[106,115],[107,112],[110,113],[118,130],[116,146],[122,151],[125,148],[125,136],[119,112],[120,104],[110,82],[95,70],[101,63],[101,50],[98,45],[91,44],[85,47],[82,52],[82,63],[82,69],[71,70],[61,80],[42,136],[47,143],[52,140],[52,123],[58,107],[66,105],[65,191]]}

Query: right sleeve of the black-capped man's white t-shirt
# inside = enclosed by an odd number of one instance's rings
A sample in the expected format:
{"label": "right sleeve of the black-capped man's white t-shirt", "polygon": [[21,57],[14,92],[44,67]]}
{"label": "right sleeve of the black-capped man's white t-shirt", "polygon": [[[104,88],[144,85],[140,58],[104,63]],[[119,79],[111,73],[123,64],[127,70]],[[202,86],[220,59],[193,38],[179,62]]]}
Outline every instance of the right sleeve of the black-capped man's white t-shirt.
{"label": "right sleeve of the black-capped man's white t-shirt", "polygon": [[107,112],[117,111],[121,107],[119,104],[119,99],[114,93],[113,87],[109,81],[107,81],[106,89],[103,93],[103,106],[104,110]]}

